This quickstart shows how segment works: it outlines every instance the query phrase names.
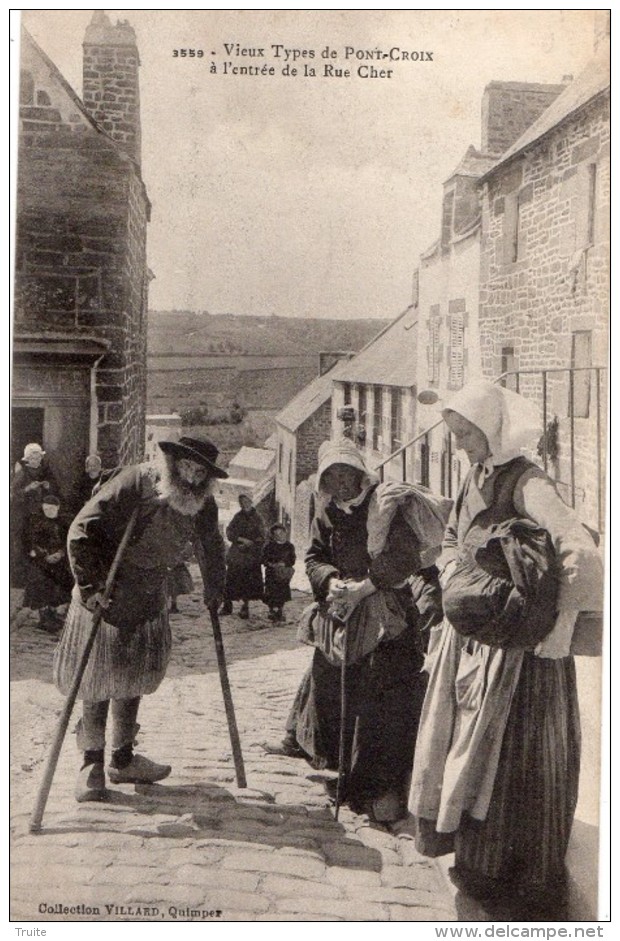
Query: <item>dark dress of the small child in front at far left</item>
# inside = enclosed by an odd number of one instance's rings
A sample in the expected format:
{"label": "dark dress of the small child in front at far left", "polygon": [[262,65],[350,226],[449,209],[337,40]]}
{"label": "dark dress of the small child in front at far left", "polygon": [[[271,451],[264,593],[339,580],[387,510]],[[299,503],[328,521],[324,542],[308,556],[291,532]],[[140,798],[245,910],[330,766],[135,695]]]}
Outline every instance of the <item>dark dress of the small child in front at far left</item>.
{"label": "dark dress of the small child in front at far left", "polygon": [[[73,578],[67,562],[67,525],[61,519],[49,519],[39,510],[29,527],[29,553],[24,605],[27,608],[57,608],[71,598]],[[48,562],[62,552],[57,562]]]}

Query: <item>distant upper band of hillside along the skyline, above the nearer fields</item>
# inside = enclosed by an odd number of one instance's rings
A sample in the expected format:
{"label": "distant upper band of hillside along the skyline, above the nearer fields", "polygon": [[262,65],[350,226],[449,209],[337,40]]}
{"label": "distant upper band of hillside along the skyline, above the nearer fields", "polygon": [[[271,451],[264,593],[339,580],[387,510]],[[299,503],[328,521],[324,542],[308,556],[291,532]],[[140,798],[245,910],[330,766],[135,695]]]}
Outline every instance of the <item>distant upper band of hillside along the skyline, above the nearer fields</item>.
{"label": "distant upper band of hillside along the skyline, above the nearer fields", "polygon": [[318,355],[321,350],[359,350],[387,323],[152,310],[148,317],[148,353],[295,356]]}

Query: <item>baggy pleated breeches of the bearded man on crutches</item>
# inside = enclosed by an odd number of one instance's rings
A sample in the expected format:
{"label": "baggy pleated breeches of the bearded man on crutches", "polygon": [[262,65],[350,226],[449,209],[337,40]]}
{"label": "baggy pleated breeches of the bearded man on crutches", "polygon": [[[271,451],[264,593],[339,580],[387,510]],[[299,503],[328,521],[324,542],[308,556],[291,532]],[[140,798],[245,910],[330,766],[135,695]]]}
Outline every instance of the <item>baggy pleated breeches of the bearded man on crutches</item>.
{"label": "baggy pleated breeches of the bearded man on crutches", "polygon": [[[63,633],[54,656],[54,682],[69,692],[90,634],[93,615],[74,589]],[[89,702],[133,699],[153,693],[163,680],[172,637],[168,613],[160,614],[131,631],[101,621],[78,698]]]}

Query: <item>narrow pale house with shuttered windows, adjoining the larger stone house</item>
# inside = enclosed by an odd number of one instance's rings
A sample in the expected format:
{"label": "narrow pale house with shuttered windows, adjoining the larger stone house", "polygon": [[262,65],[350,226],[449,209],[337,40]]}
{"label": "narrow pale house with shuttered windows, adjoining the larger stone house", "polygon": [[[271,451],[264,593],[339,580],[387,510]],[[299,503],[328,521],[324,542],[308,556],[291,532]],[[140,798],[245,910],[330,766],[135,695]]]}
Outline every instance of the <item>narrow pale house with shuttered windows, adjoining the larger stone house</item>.
{"label": "narrow pale house with shuttered windows, adjoining the larger stone house", "polygon": [[[445,400],[481,375],[478,303],[481,202],[479,180],[562,92],[564,85],[490,82],[482,98],[481,149],[470,146],[443,186],[439,237],[420,256],[418,358],[421,434],[440,419]],[[413,477],[454,496],[462,470],[441,424],[411,448]]]}

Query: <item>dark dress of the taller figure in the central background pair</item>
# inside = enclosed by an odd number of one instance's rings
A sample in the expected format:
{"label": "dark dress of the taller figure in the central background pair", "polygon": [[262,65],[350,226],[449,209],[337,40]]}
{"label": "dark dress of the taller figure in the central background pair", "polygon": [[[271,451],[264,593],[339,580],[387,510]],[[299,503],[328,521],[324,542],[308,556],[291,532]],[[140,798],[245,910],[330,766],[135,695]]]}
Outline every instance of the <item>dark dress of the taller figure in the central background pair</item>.
{"label": "dark dress of the taller figure in the central background pair", "polygon": [[[254,508],[249,512],[239,510],[228,524],[226,535],[231,543],[226,556],[226,599],[262,600],[265,525],[258,511]],[[240,539],[249,539],[252,545],[246,546]]]}

